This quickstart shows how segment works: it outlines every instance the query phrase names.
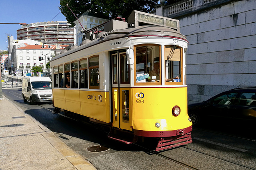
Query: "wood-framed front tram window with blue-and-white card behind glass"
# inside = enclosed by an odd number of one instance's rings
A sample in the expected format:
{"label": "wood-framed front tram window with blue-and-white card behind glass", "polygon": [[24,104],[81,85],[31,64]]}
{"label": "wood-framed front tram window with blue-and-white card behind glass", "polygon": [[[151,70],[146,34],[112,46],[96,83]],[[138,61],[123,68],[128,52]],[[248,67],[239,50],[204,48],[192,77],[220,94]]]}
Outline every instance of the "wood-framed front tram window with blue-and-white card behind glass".
{"label": "wood-framed front tram window with blue-and-white card behind glass", "polygon": [[136,83],[161,82],[160,45],[140,45],[136,51]]}

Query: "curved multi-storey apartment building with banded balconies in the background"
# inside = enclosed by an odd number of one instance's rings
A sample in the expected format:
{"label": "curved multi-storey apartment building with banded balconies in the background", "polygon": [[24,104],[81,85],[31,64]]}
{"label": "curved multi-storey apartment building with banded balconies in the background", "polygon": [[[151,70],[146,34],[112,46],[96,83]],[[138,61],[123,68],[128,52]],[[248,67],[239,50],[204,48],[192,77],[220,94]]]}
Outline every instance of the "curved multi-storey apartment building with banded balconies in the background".
{"label": "curved multi-storey apartment building with banded balconies in the background", "polygon": [[29,23],[17,30],[17,39],[32,39],[54,45],[74,45],[75,29],[67,21]]}

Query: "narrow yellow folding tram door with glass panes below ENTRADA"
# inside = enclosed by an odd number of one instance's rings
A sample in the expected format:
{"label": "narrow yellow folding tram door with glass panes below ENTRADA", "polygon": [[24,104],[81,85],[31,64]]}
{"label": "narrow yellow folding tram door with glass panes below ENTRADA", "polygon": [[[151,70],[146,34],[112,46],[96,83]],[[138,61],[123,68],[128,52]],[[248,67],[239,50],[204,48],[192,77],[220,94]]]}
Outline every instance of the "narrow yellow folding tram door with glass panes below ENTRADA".
{"label": "narrow yellow folding tram door with glass panes below ENTRADA", "polygon": [[113,126],[132,130],[130,115],[130,68],[126,52],[115,53],[112,60],[112,111]]}

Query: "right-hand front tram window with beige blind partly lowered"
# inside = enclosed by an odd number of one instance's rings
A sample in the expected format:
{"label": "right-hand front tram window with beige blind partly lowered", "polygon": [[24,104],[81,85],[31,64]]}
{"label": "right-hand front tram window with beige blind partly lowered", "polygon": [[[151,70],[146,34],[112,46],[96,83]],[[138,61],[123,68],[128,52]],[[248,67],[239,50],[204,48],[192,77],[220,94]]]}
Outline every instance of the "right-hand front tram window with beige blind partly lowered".
{"label": "right-hand front tram window with beige blind partly lowered", "polygon": [[[182,80],[182,50],[176,45],[166,45],[164,48],[166,82]],[[177,78],[178,77],[178,78]]]}

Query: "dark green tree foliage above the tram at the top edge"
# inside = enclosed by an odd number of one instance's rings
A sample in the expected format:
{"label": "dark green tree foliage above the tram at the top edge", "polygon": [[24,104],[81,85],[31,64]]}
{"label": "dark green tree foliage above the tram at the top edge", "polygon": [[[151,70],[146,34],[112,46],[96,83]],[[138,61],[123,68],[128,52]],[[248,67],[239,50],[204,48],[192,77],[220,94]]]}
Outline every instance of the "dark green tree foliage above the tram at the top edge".
{"label": "dark green tree foliage above the tram at the top edge", "polygon": [[[60,0],[60,12],[66,17],[68,23],[74,26],[73,21],[87,10],[93,10],[99,18],[113,19],[117,16],[126,18],[132,10],[153,12],[159,0]],[[66,6],[74,12],[76,17]]]}

